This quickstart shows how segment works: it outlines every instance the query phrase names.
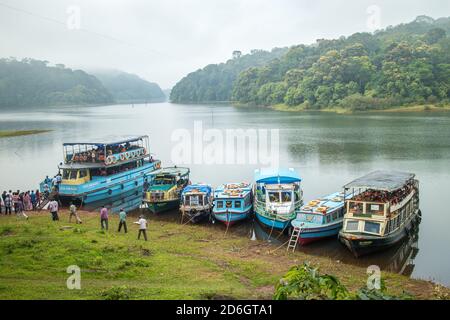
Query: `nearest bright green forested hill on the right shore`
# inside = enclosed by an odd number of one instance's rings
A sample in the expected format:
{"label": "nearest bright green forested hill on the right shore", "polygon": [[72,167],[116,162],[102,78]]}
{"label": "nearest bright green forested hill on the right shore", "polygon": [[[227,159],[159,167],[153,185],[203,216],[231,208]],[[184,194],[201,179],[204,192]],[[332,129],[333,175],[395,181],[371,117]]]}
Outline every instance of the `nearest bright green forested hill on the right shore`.
{"label": "nearest bright green forested hill on the right shore", "polygon": [[232,100],[292,109],[383,109],[448,104],[450,18],[299,45],[239,74]]}

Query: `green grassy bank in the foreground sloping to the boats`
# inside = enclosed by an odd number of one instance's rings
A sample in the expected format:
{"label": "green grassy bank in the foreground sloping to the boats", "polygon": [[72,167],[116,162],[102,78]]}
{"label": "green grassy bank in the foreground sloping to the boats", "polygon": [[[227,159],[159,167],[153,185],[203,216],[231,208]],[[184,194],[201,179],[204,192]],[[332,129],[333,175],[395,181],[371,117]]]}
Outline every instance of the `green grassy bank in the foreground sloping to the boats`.
{"label": "green grassy bank in the foreground sloping to the boats", "polygon": [[[52,222],[48,213],[29,220],[0,216],[0,299],[271,299],[293,265],[309,261],[338,276],[350,290],[364,286],[366,269],[301,251],[275,251],[262,241],[205,225],[181,225],[150,217],[149,241],[118,233],[116,216],[102,232],[97,214],[81,213],[82,225]],[[66,228],[69,226],[69,228]],[[81,290],[68,290],[66,269],[81,268]],[[427,281],[383,273],[390,292],[435,298]],[[440,289],[448,293],[448,289]]]}

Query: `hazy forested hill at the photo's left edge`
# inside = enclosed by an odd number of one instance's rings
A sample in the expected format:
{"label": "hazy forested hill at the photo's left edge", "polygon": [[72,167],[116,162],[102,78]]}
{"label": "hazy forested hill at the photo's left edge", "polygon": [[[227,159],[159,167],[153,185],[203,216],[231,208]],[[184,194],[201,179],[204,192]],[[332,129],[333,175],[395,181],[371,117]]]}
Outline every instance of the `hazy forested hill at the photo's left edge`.
{"label": "hazy forested hill at the photo's left edge", "polygon": [[47,61],[0,59],[0,107],[104,104],[114,99],[101,82],[81,70]]}

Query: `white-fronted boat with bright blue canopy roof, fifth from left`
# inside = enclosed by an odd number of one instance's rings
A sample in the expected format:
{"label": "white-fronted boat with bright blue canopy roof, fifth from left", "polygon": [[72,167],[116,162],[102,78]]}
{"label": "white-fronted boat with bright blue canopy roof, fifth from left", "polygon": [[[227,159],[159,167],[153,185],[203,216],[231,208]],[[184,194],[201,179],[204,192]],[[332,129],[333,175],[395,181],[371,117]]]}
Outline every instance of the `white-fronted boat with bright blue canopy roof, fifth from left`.
{"label": "white-fronted boat with bright blue canopy roof, fifth from left", "polygon": [[263,225],[287,230],[303,204],[302,179],[290,169],[256,170],[254,211]]}

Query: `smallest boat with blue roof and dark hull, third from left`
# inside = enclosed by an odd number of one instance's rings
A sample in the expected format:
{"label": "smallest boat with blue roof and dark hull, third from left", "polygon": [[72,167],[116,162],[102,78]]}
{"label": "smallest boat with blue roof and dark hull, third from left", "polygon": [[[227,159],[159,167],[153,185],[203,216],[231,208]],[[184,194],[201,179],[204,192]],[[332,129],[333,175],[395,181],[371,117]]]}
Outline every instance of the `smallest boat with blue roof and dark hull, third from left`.
{"label": "smallest boat with blue roof and dark hull, third from left", "polygon": [[207,184],[191,184],[181,192],[181,217],[197,223],[211,217],[213,190]]}

